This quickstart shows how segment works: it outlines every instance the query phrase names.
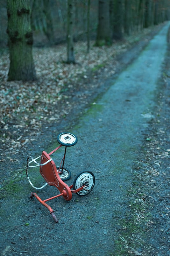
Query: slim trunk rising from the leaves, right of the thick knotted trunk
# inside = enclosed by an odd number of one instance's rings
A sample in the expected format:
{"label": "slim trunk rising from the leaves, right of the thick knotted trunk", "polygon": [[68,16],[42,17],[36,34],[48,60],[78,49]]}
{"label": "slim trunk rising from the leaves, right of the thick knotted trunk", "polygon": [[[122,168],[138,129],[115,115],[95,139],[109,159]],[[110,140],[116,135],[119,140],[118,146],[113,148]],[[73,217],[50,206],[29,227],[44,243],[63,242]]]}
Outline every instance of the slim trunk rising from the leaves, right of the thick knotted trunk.
{"label": "slim trunk rising from the leaves, right of the thick knotted trunk", "polygon": [[68,0],[67,6],[67,63],[75,63],[73,43],[73,4]]}

